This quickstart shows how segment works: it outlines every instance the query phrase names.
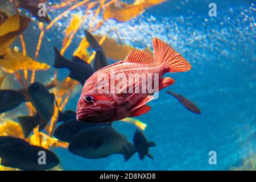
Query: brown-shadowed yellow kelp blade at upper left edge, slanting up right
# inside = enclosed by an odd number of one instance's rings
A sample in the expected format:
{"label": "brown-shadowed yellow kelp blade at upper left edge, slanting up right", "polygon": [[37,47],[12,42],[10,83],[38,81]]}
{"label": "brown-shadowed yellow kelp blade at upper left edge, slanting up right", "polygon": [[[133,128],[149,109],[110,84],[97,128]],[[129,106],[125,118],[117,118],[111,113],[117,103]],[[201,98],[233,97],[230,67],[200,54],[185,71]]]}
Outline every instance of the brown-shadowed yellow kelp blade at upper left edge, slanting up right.
{"label": "brown-shadowed yellow kelp blade at upper left edge, slanting up right", "polygon": [[7,49],[16,37],[26,30],[29,23],[30,18],[13,15],[0,25],[0,55],[7,53]]}

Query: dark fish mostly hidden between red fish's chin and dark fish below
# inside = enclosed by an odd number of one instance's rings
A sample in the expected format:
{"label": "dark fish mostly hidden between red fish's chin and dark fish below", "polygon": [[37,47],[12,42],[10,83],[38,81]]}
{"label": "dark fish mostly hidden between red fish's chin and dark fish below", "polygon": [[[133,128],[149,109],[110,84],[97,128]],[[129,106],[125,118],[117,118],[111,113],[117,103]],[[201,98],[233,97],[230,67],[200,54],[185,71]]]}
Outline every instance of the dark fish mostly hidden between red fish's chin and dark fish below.
{"label": "dark fish mostly hidden between red fish's chin and dark fish below", "polygon": [[59,140],[64,142],[71,142],[71,139],[75,137],[77,133],[80,131],[87,129],[89,127],[101,127],[101,126],[109,126],[111,127],[111,123],[86,123],[86,122],[79,122],[76,120],[76,117],[73,119],[69,119],[61,124],[55,132],[53,136]]}

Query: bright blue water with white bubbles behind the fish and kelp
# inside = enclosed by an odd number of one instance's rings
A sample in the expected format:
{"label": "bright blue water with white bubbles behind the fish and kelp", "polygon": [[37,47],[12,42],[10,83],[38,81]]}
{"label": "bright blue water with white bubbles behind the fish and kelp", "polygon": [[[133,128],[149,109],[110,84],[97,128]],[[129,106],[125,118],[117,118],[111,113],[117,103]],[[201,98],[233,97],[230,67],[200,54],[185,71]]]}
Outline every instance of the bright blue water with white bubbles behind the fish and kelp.
{"label": "bright blue water with white bubbles behind the fish and kelp", "polygon": [[[57,3],[58,1],[49,1]],[[132,3],[133,1],[127,1]],[[217,16],[208,15],[209,3],[217,5]],[[64,9],[64,8],[63,8]],[[51,19],[63,9],[48,10]],[[85,8],[72,10],[45,33],[38,61],[53,65],[53,47],[61,47],[64,31],[73,14],[83,14]],[[160,91],[151,101],[151,111],[138,117],[147,124],[143,133],[156,147],[150,148],[154,160],[140,160],[135,154],[127,162],[115,154],[103,159],[84,159],[65,148],[53,149],[64,170],[228,170],[252,169],[256,162],[256,5],[253,1],[174,1],[168,0],[147,9],[127,22],[108,19],[94,35],[105,35],[115,27],[123,44],[152,49],[156,37],[174,47],[191,63],[185,73],[167,73],[175,78],[174,85]],[[65,56],[71,57],[84,30],[100,22],[101,16],[88,17],[81,24]],[[35,53],[40,30],[34,19],[23,33],[27,55]],[[117,34],[109,38],[118,40]],[[12,47],[20,47],[19,40]],[[118,50],[116,50],[118,51]],[[113,60],[108,60],[113,63]],[[49,82],[55,69],[36,72],[35,81]],[[68,72],[61,69],[57,79]],[[14,79],[10,77],[9,80]],[[7,82],[7,81],[6,81]],[[11,82],[3,88],[18,89]],[[77,85],[65,109],[76,109],[82,86]],[[167,90],[183,94],[199,106],[201,115],[185,109]],[[20,105],[10,113],[22,113]],[[7,117],[11,118],[11,114]],[[15,121],[15,118],[11,118]],[[114,122],[119,133],[133,139],[134,125]],[[217,164],[208,163],[209,151],[217,152]]]}

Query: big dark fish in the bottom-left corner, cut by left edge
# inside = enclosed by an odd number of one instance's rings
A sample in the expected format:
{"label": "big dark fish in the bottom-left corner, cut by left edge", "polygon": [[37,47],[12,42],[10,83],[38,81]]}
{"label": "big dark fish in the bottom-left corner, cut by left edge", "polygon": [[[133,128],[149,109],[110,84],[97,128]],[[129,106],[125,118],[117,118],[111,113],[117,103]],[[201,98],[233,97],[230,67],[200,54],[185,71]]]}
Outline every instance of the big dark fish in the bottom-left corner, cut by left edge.
{"label": "big dark fish in the bottom-left corner, cut by left edge", "polygon": [[[39,164],[40,151],[46,154],[46,164]],[[26,140],[15,137],[0,137],[1,165],[21,170],[43,171],[57,166],[60,160],[45,148],[33,146]]]}

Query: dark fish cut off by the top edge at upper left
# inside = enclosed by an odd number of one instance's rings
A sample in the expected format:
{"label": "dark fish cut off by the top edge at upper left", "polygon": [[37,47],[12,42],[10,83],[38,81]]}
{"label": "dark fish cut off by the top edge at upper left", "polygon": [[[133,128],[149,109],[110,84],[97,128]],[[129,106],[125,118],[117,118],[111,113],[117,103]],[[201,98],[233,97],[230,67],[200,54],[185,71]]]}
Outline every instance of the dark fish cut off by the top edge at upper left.
{"label": "dark fish cut off by the top edge at upper left", "polygon": [[39,20],[39,22],[43,23],[50,23],[51,19],[49,19],[48,14],[46,13],[45,16],[39,16],[39,13],[43,13],[43,6],[39,6],[39,3],[45,3],[48,0],[14,0],[14,5],[16,7],[20,7],[23,9],[26,9],[30,11],[30,13],[35,16],[36,19]]}

